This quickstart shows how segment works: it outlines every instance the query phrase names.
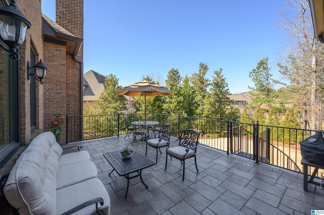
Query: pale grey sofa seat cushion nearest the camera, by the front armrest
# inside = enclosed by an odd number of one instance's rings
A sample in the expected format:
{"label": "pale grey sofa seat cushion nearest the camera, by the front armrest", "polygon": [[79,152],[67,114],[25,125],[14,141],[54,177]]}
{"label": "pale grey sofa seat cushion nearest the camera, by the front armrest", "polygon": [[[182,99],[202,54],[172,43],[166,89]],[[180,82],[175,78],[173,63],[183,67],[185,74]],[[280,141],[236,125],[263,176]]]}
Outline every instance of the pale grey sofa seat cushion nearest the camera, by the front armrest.
{"label": "pale grey sofa seat cushion nearest the camera, by the front armrest", "polygon": [[[106,215],[110,212],[109,194],[98,178],[89,179],[56,191],[56,214],[61,214],[79,204],[88,200],[101,197],[104,205],[100,204],[99,209]],[[92,214],[96,211],[96,205],[93,204],[73,214]]]}

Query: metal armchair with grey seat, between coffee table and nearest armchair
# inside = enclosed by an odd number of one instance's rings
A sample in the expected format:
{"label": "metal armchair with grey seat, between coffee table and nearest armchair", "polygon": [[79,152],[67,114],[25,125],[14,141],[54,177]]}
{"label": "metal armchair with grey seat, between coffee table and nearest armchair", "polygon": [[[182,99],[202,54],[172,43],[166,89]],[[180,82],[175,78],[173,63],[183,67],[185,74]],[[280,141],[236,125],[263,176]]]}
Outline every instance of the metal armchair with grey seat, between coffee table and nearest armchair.
{"label": "metal armchair with grey seat, between coffee table and nearest armchair", "polygon": [[157,138],[146,140],[145,156],[147,155],[147,145],[156,148],[155,164],[157,164],[157,149],[162,153],[160,148],[168,146],[167,143],[170,141],[172,129],[173,128],[170,125],[163,125],[160,127]]}

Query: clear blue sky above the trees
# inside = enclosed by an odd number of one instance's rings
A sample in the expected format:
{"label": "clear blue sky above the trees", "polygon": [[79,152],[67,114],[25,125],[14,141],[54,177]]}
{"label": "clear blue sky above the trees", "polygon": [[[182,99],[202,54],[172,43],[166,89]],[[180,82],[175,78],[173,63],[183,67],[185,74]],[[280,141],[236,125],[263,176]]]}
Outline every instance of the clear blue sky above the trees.
{"label": "clear blue sky above the trees", "polygon": [[[210,79],[223,69],[231,93],[248,91],[261,59],[277,74],[283,2],[84,0],[84,72],[114,74],[122,86],[153,74],[165,85],[172,68],[191,76],[201,62]],[[43,0],[42,12],[55,20],[55,0]]]}

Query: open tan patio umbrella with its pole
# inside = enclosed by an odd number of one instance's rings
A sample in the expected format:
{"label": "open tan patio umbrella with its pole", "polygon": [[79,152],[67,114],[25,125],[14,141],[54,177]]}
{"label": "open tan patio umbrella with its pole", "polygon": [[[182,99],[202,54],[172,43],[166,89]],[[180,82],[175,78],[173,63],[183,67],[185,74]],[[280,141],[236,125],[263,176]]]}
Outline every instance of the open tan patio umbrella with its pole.
{"label": "open tan patio umbrella with its pole", "polygon": [[146,122],[146,96],[168,96],[173,92],[163,86],[149,82],[140,81],[123,89],[115,91],[118,95],[145,96],[145,122]]}

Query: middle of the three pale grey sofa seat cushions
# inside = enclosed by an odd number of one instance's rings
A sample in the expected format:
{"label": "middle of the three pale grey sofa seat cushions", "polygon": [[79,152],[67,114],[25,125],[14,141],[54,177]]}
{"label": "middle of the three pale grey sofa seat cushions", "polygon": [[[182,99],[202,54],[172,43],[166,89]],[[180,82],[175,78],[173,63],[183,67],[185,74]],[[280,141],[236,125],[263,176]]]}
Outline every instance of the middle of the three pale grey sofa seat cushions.
{"label": "middle of the three pale grey sofa seat cushions", "polygon": [[98,171],[91,161],[79,162],[73,165],[59,167],[56,173],[56,189],[61,189],[72,184],[96,178]]}

